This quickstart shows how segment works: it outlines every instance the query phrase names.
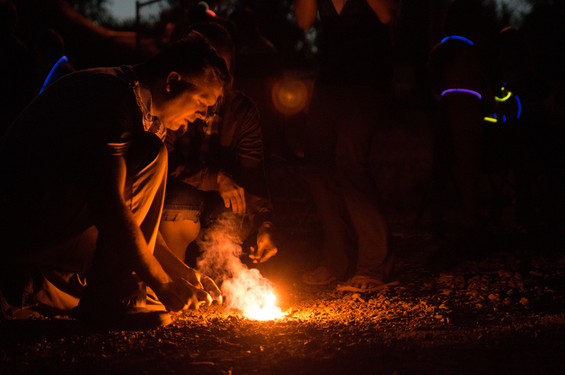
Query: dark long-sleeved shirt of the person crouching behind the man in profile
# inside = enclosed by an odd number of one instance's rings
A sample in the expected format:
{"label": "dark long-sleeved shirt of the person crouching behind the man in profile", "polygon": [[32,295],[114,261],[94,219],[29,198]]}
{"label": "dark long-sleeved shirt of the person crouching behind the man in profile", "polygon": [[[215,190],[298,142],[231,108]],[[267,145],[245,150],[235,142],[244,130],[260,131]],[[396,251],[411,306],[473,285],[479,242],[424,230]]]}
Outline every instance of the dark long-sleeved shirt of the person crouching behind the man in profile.
{"label": "dark long-sleeved shirt of the person crouching behind the man in profile", "polygon": [[218,171],[222,170],[244,187],[247,213],[254,227],[272,221],[261,123],[249,97],[227,92],[210,109],[207,121],[196,120],[186,130],[168,131],[165,145],[169,172],[183,164],[179,180],[199,190],[218,190]]}

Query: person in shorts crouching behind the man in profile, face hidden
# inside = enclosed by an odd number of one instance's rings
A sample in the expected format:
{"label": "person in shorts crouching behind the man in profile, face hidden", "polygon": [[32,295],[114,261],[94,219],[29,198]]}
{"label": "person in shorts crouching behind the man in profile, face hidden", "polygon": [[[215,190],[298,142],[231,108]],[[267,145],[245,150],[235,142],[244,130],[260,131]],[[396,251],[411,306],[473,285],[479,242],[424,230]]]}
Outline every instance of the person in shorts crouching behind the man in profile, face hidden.
{"label": "person in shorts crouching behind the man in profile, face hidden", "polygon": [[[234,42],[224,27],[196,23],[189,30],[189,35],[193,33],[210,42],[228,69],[234,65]],[[201,223],[206,228],[225,219],[238,227],[235,231],[242,242],[256,233],[256,245],[249,254],[254,262],[273,257],[278,251],[272,235],[273,204],[254,102],[241,92],[225,90],[208,109],[206,120],[167,132],[164,142],[169,150],[169,176],[160,233],[170,250],[185,259]],[[186,263],[194,264],[190,250]]]}

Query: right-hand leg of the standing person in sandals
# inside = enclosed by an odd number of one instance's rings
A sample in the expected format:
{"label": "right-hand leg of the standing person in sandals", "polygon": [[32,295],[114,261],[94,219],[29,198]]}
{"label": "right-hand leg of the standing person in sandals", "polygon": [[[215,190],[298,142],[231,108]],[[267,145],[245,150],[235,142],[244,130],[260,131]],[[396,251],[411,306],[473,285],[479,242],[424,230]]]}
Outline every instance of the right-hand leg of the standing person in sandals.
{"label": "right-hand leg of the standing person in sandals", "polygon": [[388,223],[369,163],[376,126],[386,121],[385,97],[368,87],[344,87],[342,99],[350,110],[340,125],[335,160],[357,235],[355,276],[384,282],[391,271]]}

